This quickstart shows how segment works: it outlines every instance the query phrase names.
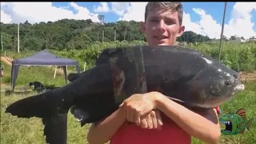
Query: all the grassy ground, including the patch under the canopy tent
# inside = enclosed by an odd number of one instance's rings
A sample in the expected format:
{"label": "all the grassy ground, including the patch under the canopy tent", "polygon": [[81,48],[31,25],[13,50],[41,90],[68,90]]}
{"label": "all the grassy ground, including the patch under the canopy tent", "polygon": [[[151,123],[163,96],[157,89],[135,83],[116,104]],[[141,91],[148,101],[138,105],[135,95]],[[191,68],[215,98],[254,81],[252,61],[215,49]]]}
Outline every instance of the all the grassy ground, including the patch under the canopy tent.
{"label": "all the grassy ground, including the patch under the canopy tent", "polygon": [[[6,73],[2,78],[3,88],[10,88],[10,66],[5,65]],[[41,74],[39,74],[41,73]],[[30,75],[30,74],[33,74]],[[58,74],[54,77],[54,70],[44,69],[36,66],[20,67],[17,79],[18,89],[26,87],[28,82],[39,81],[47,85],[63,86],[65,84],[63,75]],[[246,90],[238,94],[236,98],[221,106],[224,113],[235,113],[238,109],[246,111],[246,122],[248,119],[256,116],[256,81],[245,82]],[[38,118],[16,118],[10,114],[5,114],[6,106],[18,99],[33,95],[14,95],[5,96],[1,94],[1,143],[3,144],[41,144],[45,143],[42,130],[42,121]],[[73,115],[68,116],[68,143],[82,144],[86,142],[86,134],[90,125],[80,127]],[[252,144],[256,142],[256,118],[250,125],[250,131],[245,130],[244,134],[222,135],[220,143],[222,144]],[[194,144],[202,143],[193,138]]]}

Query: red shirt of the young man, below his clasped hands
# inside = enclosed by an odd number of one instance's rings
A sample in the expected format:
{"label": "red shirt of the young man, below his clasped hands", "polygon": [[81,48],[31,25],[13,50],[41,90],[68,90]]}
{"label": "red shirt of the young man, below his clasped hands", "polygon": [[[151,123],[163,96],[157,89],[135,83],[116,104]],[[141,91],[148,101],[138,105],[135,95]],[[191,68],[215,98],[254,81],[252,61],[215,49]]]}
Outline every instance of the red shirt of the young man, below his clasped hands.
{"label": "red shirt of the young man, below his clasped hands", "polygon": [[[219,107],[215,108],[219,114]],[[110,144],[190,144],[191,135],[182,130],[165,114],[161,114],[162,130],[142,129],[136,124],[125,122],[114,134]]]}

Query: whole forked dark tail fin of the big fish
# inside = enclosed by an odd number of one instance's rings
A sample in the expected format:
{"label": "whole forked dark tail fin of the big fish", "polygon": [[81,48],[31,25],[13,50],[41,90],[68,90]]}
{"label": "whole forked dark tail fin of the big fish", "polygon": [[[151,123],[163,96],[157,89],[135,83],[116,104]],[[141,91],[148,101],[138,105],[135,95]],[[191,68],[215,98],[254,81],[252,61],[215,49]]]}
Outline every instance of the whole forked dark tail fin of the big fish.
{"label": "whole forked dark tail fin of the big fish", "polygon": [[46,143],[66,144],[68,109],[58,108],[58,96],[48,91],[14,102],[6,108],[6,113],[18,118],[42,118]]}

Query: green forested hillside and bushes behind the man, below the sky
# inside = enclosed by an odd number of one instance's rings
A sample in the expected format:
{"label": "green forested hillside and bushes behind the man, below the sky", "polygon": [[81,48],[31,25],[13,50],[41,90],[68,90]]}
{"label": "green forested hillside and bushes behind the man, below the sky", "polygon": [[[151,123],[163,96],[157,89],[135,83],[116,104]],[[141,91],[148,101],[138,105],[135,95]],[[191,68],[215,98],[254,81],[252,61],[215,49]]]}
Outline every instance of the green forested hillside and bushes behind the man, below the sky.
{"label": "green forested hillside and bushes behind the man, below the sky", "polygon": [[[139,22],[108,22],[104,26],[87,20],[62,19],[57,22],[30,22],[19,25],[19,48],[17,52],[17,24],[1,23],[2,44],[4,50],[13,58],[24,58],[39,50],[48,49],[53,54],[78,60],[80,67],[94,66],[98,54],[115,46],[145,44],[145,38],[139,30]],[[256,70],[256,41],[225,42],[238,37],[224,37],[221,61],[234,70]],[[103,42],[102,42],[103,41]],[[116,42],[115,42],[116,41]],[[178,38],[182,46],[194,48],[213,58],[218,58],[219,43],[193,31],[186,31]],[[186,42],[187,44],[184,44]],[[183,45],[184,44],[184,45]]]}

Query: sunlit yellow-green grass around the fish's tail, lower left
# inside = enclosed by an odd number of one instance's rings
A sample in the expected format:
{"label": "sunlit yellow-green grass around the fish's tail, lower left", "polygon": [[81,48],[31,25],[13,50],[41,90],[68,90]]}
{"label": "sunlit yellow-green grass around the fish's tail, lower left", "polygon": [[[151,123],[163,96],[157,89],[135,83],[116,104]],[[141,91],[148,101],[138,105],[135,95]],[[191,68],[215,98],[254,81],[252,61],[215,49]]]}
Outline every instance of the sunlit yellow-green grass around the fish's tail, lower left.
{"label": "sunlit yellow-green grass around the fish's tail, lower left", "polygon": [[[30,94],[31,95],[31,94]],[[1,94],[1,143],[43,144],[42,121],[39,118],[17,118],[5,114],[6,106],[26,96],[5,97]],[[86,143],[86,131],[89,126],[81,127],[73,115],[68,115],[68,143]]]}

